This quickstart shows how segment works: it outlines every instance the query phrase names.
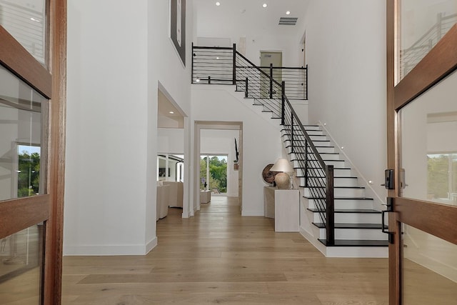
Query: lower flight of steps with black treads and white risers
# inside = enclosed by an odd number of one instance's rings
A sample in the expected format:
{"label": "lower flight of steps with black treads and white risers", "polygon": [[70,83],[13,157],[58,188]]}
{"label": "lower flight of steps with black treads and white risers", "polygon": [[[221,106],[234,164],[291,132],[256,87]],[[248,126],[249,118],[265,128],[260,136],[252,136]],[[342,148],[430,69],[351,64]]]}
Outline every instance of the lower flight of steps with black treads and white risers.
{"label": "lower flight of steps with black treads and white risers", "polygon": [[[388,241],[381,231],[381,211],[373,209],[375,199],[366,196],[366,189],[354,176],[351,164],[341,159],[331,139],[320,126],[303,126],[319,155],[327,165],[333,165],[334,241],[326,239],[326,213],[323,171],[313,169],[315,161],[306,162],[293,152],[291,132],[282,130],[283,144],[296,169],[296,181],[303,198],[301,234],[326,256],[386,257]],[[297,132],[297,131],[295,131]],[[307,149],[311,153],[311,149]],[[308,166],[307,172],[304,167]],[[308,230],[306,225],[308,223]]]}

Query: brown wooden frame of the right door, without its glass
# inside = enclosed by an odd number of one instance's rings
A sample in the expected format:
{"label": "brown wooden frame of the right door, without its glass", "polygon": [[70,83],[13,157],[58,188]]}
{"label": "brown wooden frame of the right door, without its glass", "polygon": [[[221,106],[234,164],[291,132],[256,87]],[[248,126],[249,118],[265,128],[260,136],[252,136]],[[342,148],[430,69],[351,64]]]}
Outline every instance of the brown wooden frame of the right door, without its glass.
{"label": "brown wooden frame of the right door, without its glass", "polygon": [[[400,0],[387,0],[387,149],[388,169],[395,169],[395,189],[388,191],[393,198],[393,213],[389,215],[389,231],[394,244],[389,244],[389,304],[401,304],[402,254],[401,223],[414,226],[457,244],[455,219],[457,206],[434,204],[429,201],[400,197],[401,128],[398,111],[457,69],[457,25],[407,74],[395,84],[395,61],[398,53],[398,9]],[[423,221],[428,219],[428,221]]]}

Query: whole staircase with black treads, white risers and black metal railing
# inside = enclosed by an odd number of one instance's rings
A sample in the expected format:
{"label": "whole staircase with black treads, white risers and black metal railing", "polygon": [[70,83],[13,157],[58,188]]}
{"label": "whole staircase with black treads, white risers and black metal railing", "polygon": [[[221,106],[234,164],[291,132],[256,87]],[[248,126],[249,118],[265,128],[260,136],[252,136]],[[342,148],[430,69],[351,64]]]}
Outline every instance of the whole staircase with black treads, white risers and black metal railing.
{"label": "whole staircase with black treads, white risers and black metal railing", "polygon": [[[326,256],[387,257],[381,211],[320,126],[303,126],[278,83],[233,48],[193,46],[193,84],[230,84],[281,124],[301,190],[301,234]],[[271,71],[272,69],[270,69]],[[307,75],[307,73],[306,73]]]}

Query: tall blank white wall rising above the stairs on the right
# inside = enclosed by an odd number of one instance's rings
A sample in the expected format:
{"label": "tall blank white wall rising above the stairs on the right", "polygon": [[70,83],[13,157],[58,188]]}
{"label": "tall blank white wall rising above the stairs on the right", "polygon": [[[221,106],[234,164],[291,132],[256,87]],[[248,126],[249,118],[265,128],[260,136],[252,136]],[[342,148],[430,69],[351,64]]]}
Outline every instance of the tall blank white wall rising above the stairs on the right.
{"label": "tall blank white wall rising above the stairs on the right", "polygon": [[309,123],[325,123],[381,198],[386,191],[386,1],[311,1]]}

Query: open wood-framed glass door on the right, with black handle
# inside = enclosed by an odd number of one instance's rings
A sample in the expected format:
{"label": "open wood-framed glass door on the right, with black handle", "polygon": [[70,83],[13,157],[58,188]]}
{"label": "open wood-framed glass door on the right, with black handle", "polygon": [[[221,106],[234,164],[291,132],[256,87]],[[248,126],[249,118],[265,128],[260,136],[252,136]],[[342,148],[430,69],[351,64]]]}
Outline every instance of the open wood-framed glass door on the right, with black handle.
{"label": "open wood-framed glass door on the right, with black handle", "polygon": [[390,304],[457,301],[457,6],[441,2],[387,1]]}

